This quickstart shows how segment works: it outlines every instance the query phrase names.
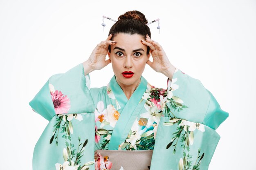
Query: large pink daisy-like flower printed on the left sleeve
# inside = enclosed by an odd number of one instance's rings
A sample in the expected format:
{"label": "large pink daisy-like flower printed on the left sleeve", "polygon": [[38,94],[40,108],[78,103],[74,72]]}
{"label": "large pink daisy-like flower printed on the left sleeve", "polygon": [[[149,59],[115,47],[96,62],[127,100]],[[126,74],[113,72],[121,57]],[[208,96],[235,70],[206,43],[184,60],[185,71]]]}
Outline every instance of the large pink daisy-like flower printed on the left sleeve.
{"label": "large pink daisy-like flower printed on the left sleeve", "polygon": [[70,110],[70,99],[67,95],[63,95],[61,91],[56,90],[54,93],[51,91],[52,102],[56,115],[67,113]]}

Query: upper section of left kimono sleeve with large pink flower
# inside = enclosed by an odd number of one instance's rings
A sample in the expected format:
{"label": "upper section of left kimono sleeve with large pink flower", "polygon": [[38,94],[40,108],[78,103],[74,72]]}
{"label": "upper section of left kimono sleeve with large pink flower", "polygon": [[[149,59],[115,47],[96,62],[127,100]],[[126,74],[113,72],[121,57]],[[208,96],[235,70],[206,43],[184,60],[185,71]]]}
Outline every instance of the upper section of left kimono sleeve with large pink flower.
{"label": "upper section of left kimono sleeve with large pink flower", "polygon": [[84,75],[83,64],[66,73],[52,75],[29,105],[49,121],[58,114],[94,112],[90,77]]}

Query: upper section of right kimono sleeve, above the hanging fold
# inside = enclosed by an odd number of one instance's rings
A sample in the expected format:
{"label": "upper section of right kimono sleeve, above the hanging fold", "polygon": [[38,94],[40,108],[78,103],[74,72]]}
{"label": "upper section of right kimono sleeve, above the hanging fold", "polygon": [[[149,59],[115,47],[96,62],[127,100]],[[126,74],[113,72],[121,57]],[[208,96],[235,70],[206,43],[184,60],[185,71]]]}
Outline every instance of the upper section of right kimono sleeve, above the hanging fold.
{"label": "upper section of right kimono sleeve, above the hanging fold", "polygon": [[167,95],[171,99],[171,109],[177,118],[199,122],[216,130],[229,116],[199,79],[183,73],[178,68],[172,81],[167,81]]}

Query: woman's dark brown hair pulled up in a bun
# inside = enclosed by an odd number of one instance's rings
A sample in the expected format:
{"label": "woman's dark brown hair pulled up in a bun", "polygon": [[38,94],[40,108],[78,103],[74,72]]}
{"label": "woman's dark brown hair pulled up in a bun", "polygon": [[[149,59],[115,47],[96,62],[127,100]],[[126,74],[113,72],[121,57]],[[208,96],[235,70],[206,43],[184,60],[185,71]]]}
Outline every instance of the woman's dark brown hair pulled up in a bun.
{"label": "woman's dark brown hair pulled up in a bun", "polygon": [[[149,27],[146,25],[148,20],[145,15],[139,11],[127,11],[123,15],[118,17],[118,21],[111,27],[108,35],[113,34],[111,40],[118,33],[128,33],[128,34],[139,34],[146,38],[146,34],[151,38],[151,32]],[[110,51],[110,46],[108,46],[108,51]],[[147,54],[150,48],[147,48]]]}

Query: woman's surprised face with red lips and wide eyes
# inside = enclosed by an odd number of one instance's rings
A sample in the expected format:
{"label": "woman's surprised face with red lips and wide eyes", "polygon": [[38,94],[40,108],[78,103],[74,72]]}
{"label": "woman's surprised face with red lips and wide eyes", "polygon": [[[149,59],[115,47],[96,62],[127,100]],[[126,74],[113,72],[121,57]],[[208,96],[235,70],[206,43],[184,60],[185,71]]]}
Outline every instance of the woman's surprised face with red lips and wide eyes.
{"label": "woman's surprised face with red lips and wide eyes", "polygon": [[[144,37],[139,34],[118,33],[113,38],[117,42],[111,45],[111,53],[108,52],[112,68],[119,85],[138,85],[146,62],[147,46],[142,44]],[[120,84],[121,83],[121,84]]]}

